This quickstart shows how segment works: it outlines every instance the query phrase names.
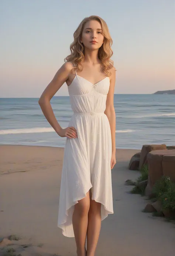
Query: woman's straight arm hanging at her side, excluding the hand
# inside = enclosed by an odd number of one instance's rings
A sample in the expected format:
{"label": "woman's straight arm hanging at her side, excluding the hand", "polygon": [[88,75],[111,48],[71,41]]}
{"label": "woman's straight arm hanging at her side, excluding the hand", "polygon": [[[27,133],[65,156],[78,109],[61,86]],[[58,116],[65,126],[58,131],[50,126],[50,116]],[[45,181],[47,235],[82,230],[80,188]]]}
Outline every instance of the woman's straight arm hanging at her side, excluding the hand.
{"label": "woman's straight arm hanging at her side, excluding the hand", "polygon": [[104,111],[110,123],[111,139],[112,139],[112,154],[116,154],[116,113],[114,109],[115,82],[116,82],[116,69],[113,67],[111,69],[110,86],[109,86],[109,92],[107,94],[106,109]]}

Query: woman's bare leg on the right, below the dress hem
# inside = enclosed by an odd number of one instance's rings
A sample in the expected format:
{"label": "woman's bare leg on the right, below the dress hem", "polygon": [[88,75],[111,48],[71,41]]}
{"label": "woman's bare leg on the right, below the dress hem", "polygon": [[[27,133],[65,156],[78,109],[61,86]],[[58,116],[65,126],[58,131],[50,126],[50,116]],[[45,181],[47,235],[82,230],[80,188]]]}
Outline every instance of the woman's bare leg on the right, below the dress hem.
{"label": "woman's bare leg on the right, below the dress hem", "polygon": [[101,229],[101,204],[95,202],[90,191],[90,208],[88,213],[87,229],[87,256],[95,256],[95,250]]}

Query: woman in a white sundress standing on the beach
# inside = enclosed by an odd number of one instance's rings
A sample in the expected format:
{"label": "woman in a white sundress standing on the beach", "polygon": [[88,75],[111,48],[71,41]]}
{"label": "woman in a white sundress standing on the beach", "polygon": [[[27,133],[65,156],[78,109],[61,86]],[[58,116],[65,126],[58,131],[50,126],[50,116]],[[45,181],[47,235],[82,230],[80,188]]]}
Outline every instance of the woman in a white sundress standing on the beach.
{"label": "woman in a white sundress standing on the beach", "polygon": [[[111,169],[116,164],[115,68],[105,21],[84,18],[74,33],[71,54],[42,93],[41,109],[66,137],[58,227],[75,236],[78,256],[94,256],[101,221],[113,214]],[[50,100],[66,82],[73,115],[68,127],[57,122]],[[87,250],[85,247],[87,236]]]}

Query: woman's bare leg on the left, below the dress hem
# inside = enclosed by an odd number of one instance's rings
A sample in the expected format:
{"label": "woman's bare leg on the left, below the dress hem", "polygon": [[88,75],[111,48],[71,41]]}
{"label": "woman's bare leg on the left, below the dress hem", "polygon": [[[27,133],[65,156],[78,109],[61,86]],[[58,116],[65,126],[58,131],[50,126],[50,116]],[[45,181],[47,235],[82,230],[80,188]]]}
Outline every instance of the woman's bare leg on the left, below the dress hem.
{"label": "woman's bare leg on the left, below the dress hem", "polygon": [[72,216],[73,232],[75,235],[76,252],[78,256],[86,256],[86,233],[88,227],[88,212],[90,207],[89,191],[86,197],[75,204]]}

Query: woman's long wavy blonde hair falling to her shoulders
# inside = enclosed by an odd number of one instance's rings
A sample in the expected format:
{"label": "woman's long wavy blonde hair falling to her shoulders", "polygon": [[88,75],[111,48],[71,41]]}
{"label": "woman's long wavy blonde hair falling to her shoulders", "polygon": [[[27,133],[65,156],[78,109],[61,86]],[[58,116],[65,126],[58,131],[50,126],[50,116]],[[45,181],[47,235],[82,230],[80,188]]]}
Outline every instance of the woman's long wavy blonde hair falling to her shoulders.
{"label": "woman's long wavy blonde hair falling to her shoulders", "polygon": [[64,61],[65,62],[72,62],[74,65],[74,69],[76,71],[82,71],[83,65],[82,61],[84,59],[84,46],[80,42],[80,38],[82,37],[82,31],[86,24],[86,22],[90,20],[96,20],[99,21],[99,23],[102,25],[102,31],[104,34],[104,42],[102,46],[99,48],[98,51],[98,58],[102,62],[102,71],[107,75],[110,76],[111,72],[109,69],[113,67],[113,61],[110,59],[110,57],[113,55],[113,51],[111,49],[111,45],[113,43],[112,38],[109,33],[109,28],[107,27],[106,22],[100,18],[99,16],[89,16],[82,20],[82,22],[79,24],[76,31],[73,33],[74,41],[70,45],[71,54],[68,55]]}

